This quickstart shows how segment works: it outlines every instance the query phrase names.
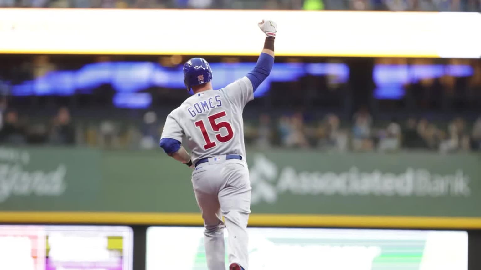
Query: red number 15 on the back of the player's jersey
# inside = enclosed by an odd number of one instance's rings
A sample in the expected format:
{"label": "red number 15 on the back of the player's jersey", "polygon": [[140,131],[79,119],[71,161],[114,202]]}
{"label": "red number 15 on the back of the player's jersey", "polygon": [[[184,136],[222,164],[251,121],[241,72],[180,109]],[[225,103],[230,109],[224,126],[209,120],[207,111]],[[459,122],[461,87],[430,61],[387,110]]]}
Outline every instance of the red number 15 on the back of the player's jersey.
{"label": "red number 15 on the back of the player's jersey", "polygon": [[[230,123],[225,122],[225,121],[215,123],[215,120],[217,120],[221,117],[224,117],[224,116],[226,116],[225,110],[221,111],[221,112],[217,112],[217,113],[207,117],[209,119],[209,123],[210,123],[210,126],[211,126],[212,130],[219,133],[219,134],[215,135],[215,138],[217,139],[217,141],[219,141],[221,143],[226,143],[226,142],[230,141],[232,139],[232,137],[234,137],[234,132],[232,131],[232,126],[230,125]],[[205,145],[204,145],[205,150],[210,149],[212,147],[215,147],[217,145],[215,142],[211,141],[209,135],[207,134],[207,130],[205,129],[205,124],[204,124],[203,120],[199,120],[199,121],[195,122],[195,126],[200,128],[200,130],[202,132],[202,136],[204,137],[204,140],[205,140]],[[227,130],[227,135],[225,135],[225,136],[220,135],[220,132],[219,132],[219,130],[223,127],[226,128],[226,130]]]}

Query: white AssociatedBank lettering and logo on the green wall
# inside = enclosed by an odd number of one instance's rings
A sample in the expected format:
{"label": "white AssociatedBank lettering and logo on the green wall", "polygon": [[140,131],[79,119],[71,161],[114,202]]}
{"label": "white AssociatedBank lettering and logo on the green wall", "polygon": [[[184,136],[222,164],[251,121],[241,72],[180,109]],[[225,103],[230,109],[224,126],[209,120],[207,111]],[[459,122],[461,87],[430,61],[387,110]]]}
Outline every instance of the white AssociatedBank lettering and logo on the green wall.
{"label": "white AssociatedBank lettering and logo on the green wall", "polygon": [[[339,165],[337,166],[339,168]],[[470,178],[462,170],[437,174],[423,168],[407,167],[401,173],[362,171],[356,166],[341,172],[298,171],[279,167],[265,155],[256,154],[249,168],[253,205],[275,203],[278,195],[319,196],[422,196],[468,197]]]}

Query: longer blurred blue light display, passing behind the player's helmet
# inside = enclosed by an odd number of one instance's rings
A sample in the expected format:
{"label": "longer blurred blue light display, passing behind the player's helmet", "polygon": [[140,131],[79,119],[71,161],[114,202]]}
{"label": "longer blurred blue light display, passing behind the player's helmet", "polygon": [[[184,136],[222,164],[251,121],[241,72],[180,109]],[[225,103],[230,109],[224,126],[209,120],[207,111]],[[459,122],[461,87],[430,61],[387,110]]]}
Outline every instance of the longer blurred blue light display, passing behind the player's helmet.
{"label": "longer blurred blue light display, passing behind the player's helmet", "polygon": [[[222,88],[241,78],[255,66],[254,62],[211,63],[214,88]],[[255,92],[265,96],[271,82],[295,81],[305,75],[333,75],[337,83],[349,78],[349,68],[342,63],[276,63],[270,76]],[[145,108],[152,101],[138,92],[149,87],[184,88],[182,65],[164,67],[153,62],[91,63],[75,71],[53,71],[32,81],[11,87],[13,96],[70,96],[89,94],[101,85],[111,85],[116,94],[114,104],[123,108]],[[130,98],[138,99],[127,102]],[[130,104],[130,105],[128,105]]]}

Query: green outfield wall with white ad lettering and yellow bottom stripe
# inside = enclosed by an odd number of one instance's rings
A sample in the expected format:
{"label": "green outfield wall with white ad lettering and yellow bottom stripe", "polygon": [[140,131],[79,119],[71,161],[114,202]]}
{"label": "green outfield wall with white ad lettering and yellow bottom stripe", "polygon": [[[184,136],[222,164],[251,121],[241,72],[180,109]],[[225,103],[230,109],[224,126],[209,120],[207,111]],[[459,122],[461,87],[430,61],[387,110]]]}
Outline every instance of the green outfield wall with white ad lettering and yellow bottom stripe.
{"label": "green outfield wall with white ad lettering and yellow bottom stripe", "polygon": [[[480,155],[248,153],[256,225],[481,228]],[[0,222],[201,224],[190,173],[162,150],[0,147]]]}

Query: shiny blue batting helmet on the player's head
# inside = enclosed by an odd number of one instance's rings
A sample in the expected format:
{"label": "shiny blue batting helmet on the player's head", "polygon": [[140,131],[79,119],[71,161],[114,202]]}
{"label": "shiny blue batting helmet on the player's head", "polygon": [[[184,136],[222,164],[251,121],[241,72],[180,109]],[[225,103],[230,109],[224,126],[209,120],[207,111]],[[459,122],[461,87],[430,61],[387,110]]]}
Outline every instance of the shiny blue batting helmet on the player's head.
{"label": "shiny blue batting helmet on the player's head", "polygon": [[212,69],[203,58],[192,58],[184,64],[184,84],[190,92],[192,86],[212,81]]}

